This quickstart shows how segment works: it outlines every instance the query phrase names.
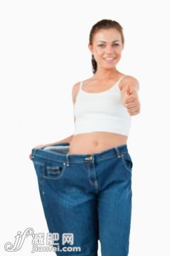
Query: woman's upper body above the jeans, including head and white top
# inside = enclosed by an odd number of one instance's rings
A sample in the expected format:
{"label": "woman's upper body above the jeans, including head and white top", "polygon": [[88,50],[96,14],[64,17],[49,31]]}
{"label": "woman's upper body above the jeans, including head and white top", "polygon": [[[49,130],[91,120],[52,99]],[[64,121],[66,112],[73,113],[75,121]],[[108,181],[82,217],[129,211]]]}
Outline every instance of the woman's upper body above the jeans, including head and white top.
{"label": "woman's upper body above the jeans, including head and white top", "polygon": [[127,144],[131,116],[139,113],[139,83],[116,67],[124,49],[122,26],[117,21],[98,22],[90,31],[88,48],[94,75],[73,86],[75,134],[69,154],[92,154]]}

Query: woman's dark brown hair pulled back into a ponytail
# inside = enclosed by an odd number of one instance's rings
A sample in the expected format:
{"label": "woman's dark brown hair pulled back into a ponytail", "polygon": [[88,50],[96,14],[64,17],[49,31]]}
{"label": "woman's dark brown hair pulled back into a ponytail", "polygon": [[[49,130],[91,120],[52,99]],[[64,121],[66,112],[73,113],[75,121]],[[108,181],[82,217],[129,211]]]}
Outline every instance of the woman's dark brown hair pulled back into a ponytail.
{"label": "woman's dark brown hair pulled back into a ponytail", "polygon": [[[122,44],[124,45],[124,35],[122,32],[123,28],[117,21],[113,21],[112,19],[102,19],[101,21],[98,21],[96,24],[92,26],[89,36],[89,44],[92,45],[92,39],[95,33],[97,33],[97,31],[99,31],[100,29],[117,29],[121,34]],[[95,74],[96,71],[97,62],[95,61],[94,55],[92,54],[92,73]]]}

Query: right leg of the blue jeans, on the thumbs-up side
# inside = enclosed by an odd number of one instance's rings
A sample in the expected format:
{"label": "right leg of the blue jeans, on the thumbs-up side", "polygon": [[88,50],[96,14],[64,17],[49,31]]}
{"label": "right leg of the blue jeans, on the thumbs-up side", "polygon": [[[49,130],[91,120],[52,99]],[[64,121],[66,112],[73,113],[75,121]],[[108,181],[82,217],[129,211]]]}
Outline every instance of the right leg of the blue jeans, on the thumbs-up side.
{"label": "right leg of the blue jeans, on the thumbs-up side", "polygon": [[98,218],[102,256],[127,256],[129,253],[132,173],[124,167],[123,161],[113,158],[100,170]]}

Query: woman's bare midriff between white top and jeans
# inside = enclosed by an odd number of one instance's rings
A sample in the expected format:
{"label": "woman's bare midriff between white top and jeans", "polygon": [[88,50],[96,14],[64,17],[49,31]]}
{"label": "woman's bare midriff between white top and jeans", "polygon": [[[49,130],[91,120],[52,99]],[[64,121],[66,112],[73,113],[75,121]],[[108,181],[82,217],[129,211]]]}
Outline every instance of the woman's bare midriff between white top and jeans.
{"label": "woman's bare midriff between white top and jeans", "polygon": [[70,141],[68,154],[95,154],[127,144],[127,136],[112,132],[76,134]]}

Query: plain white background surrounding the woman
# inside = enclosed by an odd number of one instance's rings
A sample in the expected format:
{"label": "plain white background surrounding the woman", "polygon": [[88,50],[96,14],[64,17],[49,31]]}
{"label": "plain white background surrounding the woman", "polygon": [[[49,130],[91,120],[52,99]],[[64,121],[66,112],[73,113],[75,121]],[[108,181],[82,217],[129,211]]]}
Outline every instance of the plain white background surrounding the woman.
{"label": "plain white background surrounding the woman", "polygon": [[[4,244],[14,243],[18,231],[48,232],[28,155],[37,144],[74,133],[71,91],[92,76],[87,44],[100,19],[123,26],[125,46],[117,69],[140,84],[141,113],[132,117],[128,139],[134,164],[129,256],[170,255],[170,20],[165,0],[1,1],[1,255],[9,255]],[[28,238],[13,253],[33,255],[31,248]]]}

